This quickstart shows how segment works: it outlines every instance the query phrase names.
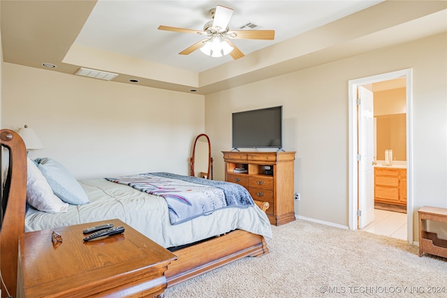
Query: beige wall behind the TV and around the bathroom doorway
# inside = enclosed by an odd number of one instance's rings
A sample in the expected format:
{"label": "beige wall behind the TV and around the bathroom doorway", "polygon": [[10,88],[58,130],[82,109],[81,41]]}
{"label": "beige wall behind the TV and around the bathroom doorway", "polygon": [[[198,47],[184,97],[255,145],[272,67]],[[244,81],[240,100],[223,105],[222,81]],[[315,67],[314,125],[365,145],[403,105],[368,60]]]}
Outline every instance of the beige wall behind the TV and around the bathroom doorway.
{"label": "beige wall behind the TV and around the bathroom doorway", "polygon": [[[349,225],[348,81],[413,68],[414,237],[417,209],[447,207],[447,34],[307,68],[210,94],[205,126],[214,175],[230,149],[231,112],[284,106],[284,149],[297,151],[295,203],[300,216]],[[426,154],[429,152],[430,154]]]}

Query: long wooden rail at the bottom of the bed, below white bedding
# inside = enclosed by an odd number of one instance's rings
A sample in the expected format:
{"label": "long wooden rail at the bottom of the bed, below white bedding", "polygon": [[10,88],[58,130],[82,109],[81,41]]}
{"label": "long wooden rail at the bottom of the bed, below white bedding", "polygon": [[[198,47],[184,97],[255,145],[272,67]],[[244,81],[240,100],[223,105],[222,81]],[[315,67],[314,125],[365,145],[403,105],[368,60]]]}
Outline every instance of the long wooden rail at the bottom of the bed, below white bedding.
{"label": "long wooden rail at the bottom of the bed, below white bedding", "polygon": [[173,252],[177,260],[165,272],[168,287],[244,257],[268,253],[264,237],[235,230]]}

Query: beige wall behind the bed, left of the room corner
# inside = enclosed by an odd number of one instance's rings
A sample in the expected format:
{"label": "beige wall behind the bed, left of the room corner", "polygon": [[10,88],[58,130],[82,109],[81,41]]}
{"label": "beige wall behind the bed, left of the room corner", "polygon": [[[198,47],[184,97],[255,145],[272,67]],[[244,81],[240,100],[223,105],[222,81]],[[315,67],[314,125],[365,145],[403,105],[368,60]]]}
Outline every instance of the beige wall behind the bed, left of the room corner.
{"label": "beige wall behind the bed, left of the room corner", "polygon": [[189,173],[204,97],[3,64],[2,128],[27,124],[78,179],[167,171]]}

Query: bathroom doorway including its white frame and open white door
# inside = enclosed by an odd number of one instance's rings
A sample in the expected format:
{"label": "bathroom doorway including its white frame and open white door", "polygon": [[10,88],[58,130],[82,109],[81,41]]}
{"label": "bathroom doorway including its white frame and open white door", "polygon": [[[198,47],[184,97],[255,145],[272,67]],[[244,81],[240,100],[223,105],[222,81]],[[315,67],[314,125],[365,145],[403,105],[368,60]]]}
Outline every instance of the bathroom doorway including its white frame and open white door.
{"label": "bathroom doorway including its white frame and open white door", "polygon": [[[385,84],[396,84],[396,88],[385,87]],[[379,92],[379,89],[399,89],[395,91],[402,92],[400,87],[404,87],[403,105],[395,103],[393,107],[383,107],[378,101],[374,111],[374,92]],[[396,111],[396,107],[400,110]],[[387,210],[377,211],[374,203],[390,203],[390,207],[394,205],[397,209],[406,210],[406,214],[396,214],[395,217],[400,218],[396,220],[400,223],[406,221],[405,239],[412,243],[411,69],[349,81],[349,115],[349,228],[365,228],[374,220],[383,220],[383,216],[390,214],[386,214]],[[404,148],[390,143],[391,139],[391,142],[402,142],[402,139],[397,140],[402,138],[402,133],[396,135],[388,131],[394,135],[386,137],[378,134],[385,124],[393,129],[404,126]],[[388,143],[383,142],[384,139]],[[389,152],[390,149],[394,154]],[[379,182],[374,184],[376,174],[379,174]]]}

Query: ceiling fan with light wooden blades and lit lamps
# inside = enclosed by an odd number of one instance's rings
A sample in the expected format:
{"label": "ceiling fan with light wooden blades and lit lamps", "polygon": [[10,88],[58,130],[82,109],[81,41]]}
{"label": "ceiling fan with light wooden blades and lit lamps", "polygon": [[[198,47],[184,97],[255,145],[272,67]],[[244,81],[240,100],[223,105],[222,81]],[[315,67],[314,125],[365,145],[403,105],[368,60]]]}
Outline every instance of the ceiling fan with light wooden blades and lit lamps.
{"label": "ceiling fan with light wooden blades and lit lamps", "polygon": [[225,6],[216,6],[210,10],[210,16],[213,20],[207,22],[203,26],[203,31],[184,29],[177,27],[159,26],[159,30],[175,31],[181,33],[194,33],[207,38],[198,41],[186,48],[181,55],[191,54],[195,50],[200,49],[202,52],[211,57],[222,57],[230,54],[233,59],[244,57],[242,53],[230,40],[231,39],[261,39],[273,40],[274,30],[230,30],[228,23],[233,15],[233,9]]}

